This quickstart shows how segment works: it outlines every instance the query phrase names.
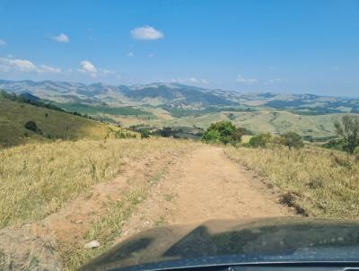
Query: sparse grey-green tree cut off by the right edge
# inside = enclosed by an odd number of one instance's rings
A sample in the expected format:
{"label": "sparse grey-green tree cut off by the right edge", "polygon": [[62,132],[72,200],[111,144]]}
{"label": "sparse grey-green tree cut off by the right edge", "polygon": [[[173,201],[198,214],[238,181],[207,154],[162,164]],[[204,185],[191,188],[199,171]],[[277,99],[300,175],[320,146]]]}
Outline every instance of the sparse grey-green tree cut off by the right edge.
{"label": "sparse grey-green tree cut off by the right edge", "polygon": [[337,135],[343,138],[346,150],[354,153],[355,148],[359,146],[359,117],[346,115],[342,118],[342,123],[336,121],[334,127]]}

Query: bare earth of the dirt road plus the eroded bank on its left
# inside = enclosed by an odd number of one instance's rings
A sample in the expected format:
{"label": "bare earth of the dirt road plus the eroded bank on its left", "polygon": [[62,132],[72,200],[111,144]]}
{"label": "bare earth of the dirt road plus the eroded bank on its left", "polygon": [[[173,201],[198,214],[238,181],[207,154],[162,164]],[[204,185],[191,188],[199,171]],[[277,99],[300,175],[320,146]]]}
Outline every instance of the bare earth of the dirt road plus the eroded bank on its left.
{"label": "bare earth of the dirt road plus the eroded bank on its left", "polygon": [[[147,196],[123,222],[116,241],[163,224],[293,215],[272,190],[226,158],[222,148],[204,145],[178,154],[157,153],[129,162],[117,179],[97,184],[92,193],[78,197],[57,214],[39,223],[0,230],[0,269],[61,270],[58,255],[83,246],[85,233],[106,214],[106,206],[138,187],[148,189]],[[162,171],[161,179],[147,185]]]}

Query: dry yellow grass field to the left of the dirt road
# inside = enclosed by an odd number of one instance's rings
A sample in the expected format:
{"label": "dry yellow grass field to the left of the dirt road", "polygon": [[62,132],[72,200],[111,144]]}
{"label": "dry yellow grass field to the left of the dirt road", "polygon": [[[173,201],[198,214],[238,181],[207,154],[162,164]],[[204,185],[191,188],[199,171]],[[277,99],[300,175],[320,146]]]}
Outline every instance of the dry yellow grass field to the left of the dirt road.
{"label": "dry yellow grass field to the left of the dirt road", "polygon": [[26,144],[0,151],[0,228],[57,212],[66,201],[112,179],[124,161],[184,148],[170,139]]}

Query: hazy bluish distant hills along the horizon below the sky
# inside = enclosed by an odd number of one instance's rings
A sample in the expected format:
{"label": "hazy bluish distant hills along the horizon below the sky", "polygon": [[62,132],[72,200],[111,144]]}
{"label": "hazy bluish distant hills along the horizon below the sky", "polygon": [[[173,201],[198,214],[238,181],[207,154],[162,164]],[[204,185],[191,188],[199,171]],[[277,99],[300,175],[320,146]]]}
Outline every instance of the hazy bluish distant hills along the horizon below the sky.
{"label": "hazy bluish distant hills along the horizon below the sky", "polygon": [[208,90],[180,83],[109,85],[57,81],[4,81],[0,90],[31,93],[41,99],[109,106],[163,106],[203,109],[210,107],[267,107],[301,109],[319,113],[359,112],[359,99],[324,97],[313,94],[240,93]]}

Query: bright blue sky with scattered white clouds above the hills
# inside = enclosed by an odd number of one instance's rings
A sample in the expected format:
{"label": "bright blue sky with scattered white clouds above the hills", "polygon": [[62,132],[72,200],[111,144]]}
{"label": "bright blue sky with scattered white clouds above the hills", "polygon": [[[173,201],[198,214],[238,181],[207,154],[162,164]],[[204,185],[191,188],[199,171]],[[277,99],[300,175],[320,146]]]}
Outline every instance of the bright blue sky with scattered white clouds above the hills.
{"label": "bright blue sky with scattered white clouds above the hills", "polygon": [[0,79],[359,96],[359,1],[0,0]]}

